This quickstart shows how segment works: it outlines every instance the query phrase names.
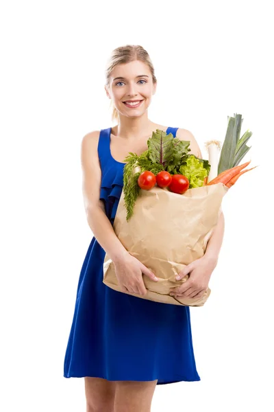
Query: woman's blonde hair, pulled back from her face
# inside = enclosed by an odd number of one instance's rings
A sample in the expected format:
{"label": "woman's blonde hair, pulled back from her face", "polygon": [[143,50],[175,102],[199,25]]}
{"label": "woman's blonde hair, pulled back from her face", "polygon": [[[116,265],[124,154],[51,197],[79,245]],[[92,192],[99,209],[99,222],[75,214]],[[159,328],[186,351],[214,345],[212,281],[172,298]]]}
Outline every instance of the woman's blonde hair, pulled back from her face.
{"label": "woman's blonde hair, pulled back from her face", "polygon": [[[112,51],[110,59],[108,60],[107,67],[105,69],[105,86],[109,87],[110,74],[112,72],[112,69],[114,69],[116,65],[122,65],[123,63],[133,62],[134,60],[144,62],[149,67],[151,71],[152,81],[153,83],[155,83],[156,78],[154,74],[154,67],[147,51],[140,45],[125,45],[117,47]],[[110,102],[110,106],[112,106],[112,122],[114,122],[115,120],[118,121],[118,112],[114,107],[112,101]]]}

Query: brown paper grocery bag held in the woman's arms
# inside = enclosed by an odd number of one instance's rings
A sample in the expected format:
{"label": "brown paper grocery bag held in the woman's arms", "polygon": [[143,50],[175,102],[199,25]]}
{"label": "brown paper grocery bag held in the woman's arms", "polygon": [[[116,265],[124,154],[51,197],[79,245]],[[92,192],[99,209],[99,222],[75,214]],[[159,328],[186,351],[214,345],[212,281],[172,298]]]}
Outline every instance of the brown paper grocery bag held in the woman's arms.
{"label": "brown paper grocery bag held in the woman's arms", "polygon": [[[158,186],[140,190],[134,214],[128,222],[122,192],[113,225],[116,236],[131,255],[159,278],[158,282],[153,282],[142,275],[147,294],[127,294],[164,304],[203,306],[210,296],[210,288],[196,299],[175,298],[169,293],[171,288],[186,282],[189,277],[186,275],[176,281],[176,273],[204,255],[227,190],[229,188],[223,183],[195,187],[184,194],[175,194]],[[103,264],[103,283],[121,292],[114,264],[107,254]]]}

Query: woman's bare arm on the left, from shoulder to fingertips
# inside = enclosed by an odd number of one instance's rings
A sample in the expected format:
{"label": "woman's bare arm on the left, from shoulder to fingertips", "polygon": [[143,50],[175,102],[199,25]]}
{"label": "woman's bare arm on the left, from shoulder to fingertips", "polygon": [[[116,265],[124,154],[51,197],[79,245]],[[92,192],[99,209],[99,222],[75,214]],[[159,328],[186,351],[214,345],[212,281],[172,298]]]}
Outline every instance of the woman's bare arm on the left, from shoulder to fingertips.
{"label": "woman's bare arm on the left, from shoulder to fingertips", "polygon": [[142,279],[142,273],[155,282],[158,279],[144,264],[130,255],[127,249],[123,247],[108,216],[105,214],[105,205],[100,200],[101,168],[97,151],[98,141],[98,131],[88,133],[82,139],[82,190],[88,225],[101,247],[114,263],[121,291],[145,295],[147,289]]}

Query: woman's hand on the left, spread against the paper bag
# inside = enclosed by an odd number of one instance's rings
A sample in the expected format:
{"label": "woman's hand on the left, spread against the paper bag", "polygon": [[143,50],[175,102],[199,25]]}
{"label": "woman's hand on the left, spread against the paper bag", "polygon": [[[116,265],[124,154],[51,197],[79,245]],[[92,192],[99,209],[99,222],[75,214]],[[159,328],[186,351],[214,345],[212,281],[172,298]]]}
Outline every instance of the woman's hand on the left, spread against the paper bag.
{"label": "woman's hand on the left, spread against the paper bag", "polygon": [[114,262],[114,268],[122,292],[146,295],[147,289],[142,279],[142,273],[149,277],[149,279],[154,280],[154,282],[158,282],[158,278],[155,277],[154,273],[142,264],[140,260],[130,255],[129,252]]}

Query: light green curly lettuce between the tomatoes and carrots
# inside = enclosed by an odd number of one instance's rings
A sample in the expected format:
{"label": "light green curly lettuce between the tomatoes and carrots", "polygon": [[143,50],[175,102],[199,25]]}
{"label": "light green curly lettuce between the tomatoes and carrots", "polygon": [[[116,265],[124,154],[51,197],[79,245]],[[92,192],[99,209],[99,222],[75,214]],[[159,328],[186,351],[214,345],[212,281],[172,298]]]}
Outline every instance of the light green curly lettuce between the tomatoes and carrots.
{"label": "light green curly lettuce between the tomatoes and carrots", "polygon": [[188,155],[184,164],[180,166],[179,173],[184,174],[189,180],[189,188],[203,186],[203,179],[210,172],[207,160],[199,159],[195,155]]}

